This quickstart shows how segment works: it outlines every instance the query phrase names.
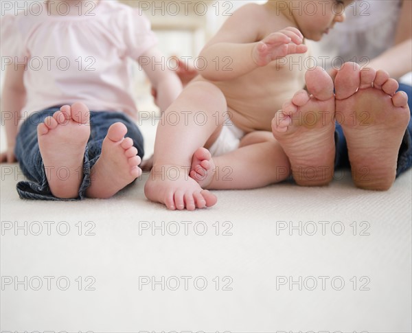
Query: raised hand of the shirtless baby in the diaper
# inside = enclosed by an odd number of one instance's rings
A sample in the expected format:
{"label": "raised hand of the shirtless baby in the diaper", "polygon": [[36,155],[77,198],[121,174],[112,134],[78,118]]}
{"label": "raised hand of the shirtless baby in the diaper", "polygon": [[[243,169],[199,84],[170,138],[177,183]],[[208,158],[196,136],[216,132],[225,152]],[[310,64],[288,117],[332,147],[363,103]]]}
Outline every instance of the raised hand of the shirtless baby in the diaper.
{"label": "raised hand of the shirtless baby in the diaper", "polygon": [[273,32],[257,43],[253,48],[253,60],[258,66],[266,66],[269,62],[288,54],[305,53],[306,45],[302,45],[304,36],[295,27]]}

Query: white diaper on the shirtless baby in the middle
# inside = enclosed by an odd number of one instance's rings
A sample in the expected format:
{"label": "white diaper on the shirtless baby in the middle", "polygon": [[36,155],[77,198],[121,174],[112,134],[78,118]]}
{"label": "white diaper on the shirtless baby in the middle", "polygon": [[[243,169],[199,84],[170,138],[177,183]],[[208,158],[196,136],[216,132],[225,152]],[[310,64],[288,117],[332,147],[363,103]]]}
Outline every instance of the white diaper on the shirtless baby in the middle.
{"label": "white diaper on the shirtless baby in the middle", "polygon": [[222,126],[218,139],[209,147],[211,156],[220,156],[227,152],[233,152],[239,148],[240,139],[244,137],[244,131],[236,127],[229,119]]}

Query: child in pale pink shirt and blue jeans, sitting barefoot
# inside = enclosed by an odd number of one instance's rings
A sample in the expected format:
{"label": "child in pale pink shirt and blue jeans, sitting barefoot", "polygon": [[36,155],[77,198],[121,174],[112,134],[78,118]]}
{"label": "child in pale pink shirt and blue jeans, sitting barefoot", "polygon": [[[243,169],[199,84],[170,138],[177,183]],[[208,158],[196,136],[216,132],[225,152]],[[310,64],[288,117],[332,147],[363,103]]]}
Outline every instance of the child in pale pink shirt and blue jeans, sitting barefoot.
{"label": "child in pale pink shirt and blue jeans, sitting barefoot", "polygon": [[1,161],[17,159],[30,179],[18,183],[19,195],[113,196],[140,176],[144,154],[128,60],[137,60],[157,89],[161,111],[182,89],[172,71],[152,66],[162,54],[150,23],[117,1],[38,1],[27,10],[6,9],[1,111],[8,150]]}

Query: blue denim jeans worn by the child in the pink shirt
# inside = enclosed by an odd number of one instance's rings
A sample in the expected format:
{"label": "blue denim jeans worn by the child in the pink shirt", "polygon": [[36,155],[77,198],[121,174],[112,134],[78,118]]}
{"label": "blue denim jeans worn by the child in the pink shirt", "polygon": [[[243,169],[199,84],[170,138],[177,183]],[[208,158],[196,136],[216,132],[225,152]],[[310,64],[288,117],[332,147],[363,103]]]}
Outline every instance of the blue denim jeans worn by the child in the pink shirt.
{"label": "blue denim jeans worn by the child in the pink shirt", "polygon": [[[37,141],[37,125],[43,122],[45,117],[53,115],[60,106],[48,108],[47,110],[33,113],[23,122],[16,139],[14,153],[19,161],[28,181],[17,183],[17,192],[24,199],[35,200],[63,200],[53,196],[47,183],[43,160]],[[144,146],[143,137],[139,128],[132,119],[124,113],[112,111],[91,111],[90,129],[91,134],[84,151],[83,179],[80,185],[78,198],[64,200],[80,200],[84,198],[87,187],[90,186],[90,170],[100,157],[102,152],[102,142],[108,128],[115,122],[122,122],[127,127],[126,137],[133,139],[134,146],[138,150],[139,157],[143,158]]]}

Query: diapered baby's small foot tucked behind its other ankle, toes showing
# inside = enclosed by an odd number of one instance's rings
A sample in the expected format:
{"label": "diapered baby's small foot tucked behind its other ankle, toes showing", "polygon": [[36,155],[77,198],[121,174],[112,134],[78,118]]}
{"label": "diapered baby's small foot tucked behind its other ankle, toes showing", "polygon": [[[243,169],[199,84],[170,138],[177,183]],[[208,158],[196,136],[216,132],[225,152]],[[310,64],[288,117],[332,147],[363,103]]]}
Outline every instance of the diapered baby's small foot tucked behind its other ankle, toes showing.
{"label": "diapered baby's small foot tucked behind its other ankle, toes showing", "polygon": [[209,150],[206,148],[198,148],[192,157],[190,176],[197,181],[202,188],[207,188],[214,174],[215,164]]}

